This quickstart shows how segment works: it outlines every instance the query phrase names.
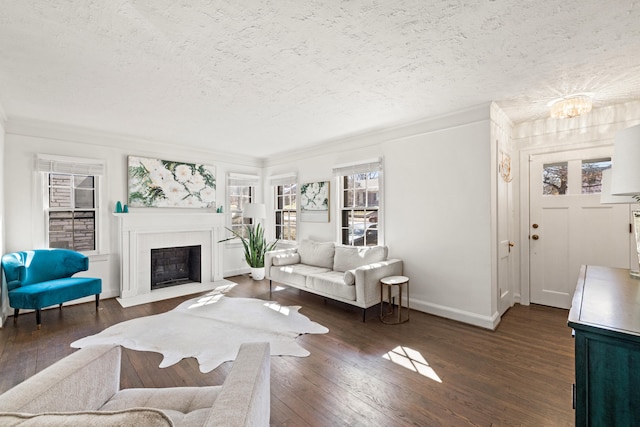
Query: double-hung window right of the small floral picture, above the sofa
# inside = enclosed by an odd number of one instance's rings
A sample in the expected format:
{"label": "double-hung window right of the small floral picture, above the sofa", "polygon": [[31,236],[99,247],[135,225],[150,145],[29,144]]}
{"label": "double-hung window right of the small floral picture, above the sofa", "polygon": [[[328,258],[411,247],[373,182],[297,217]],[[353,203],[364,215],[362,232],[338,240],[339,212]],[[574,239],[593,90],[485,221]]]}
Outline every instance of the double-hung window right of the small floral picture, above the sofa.
{"label": "double-hung window right of the small floral picture, above the sofa", "polygon": [[333,171],[339,180],[342,244],[382,244],[382,161],[338,166]]}

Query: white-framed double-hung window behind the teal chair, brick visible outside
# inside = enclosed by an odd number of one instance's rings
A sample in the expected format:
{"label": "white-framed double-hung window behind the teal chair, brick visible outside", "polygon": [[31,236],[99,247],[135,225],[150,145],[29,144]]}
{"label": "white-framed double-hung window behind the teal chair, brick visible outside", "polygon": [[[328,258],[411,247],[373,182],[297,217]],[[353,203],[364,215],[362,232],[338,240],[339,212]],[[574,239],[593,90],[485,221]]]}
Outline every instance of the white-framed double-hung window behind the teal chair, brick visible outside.
{"label": "white-framed double-hung window behind the teal chair, brick visible outside", "polygon": [[98,182],[104,164],[90,159],[38,156],[42,173],[45,241],[49,248],[98,250]]}

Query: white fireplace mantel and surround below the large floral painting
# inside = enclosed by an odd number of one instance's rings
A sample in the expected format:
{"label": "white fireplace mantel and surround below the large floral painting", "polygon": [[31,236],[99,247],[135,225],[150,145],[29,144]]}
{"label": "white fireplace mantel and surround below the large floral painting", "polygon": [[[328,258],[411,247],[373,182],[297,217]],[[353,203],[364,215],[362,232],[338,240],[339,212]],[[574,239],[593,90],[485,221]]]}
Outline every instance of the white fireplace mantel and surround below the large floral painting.
{"label": "white fireplace mantel and surround below the large floral painting", "polygon": [[[114,213],[120,239],[121,304],[144,301],[151,291],[151,249],[174,246],[201,246],[202,284],[222,280],[222,247],[225,215],[213,212]],[[184,287],[192,293],[189,285]],[[153,292],[159,292],[156,290]],[[179,294],[179,293],[178,293]],[[149,299],[153,300],[153,299]]]}

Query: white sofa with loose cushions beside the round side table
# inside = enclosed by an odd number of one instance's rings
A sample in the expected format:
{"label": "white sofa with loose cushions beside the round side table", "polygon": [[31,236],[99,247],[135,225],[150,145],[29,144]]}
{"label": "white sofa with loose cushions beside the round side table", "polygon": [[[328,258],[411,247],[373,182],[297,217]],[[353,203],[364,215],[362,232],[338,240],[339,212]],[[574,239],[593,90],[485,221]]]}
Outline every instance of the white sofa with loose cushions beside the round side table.
{"label": "white sofa with loose cushions beside the round side table", "polygon": [[365,310],[380,303],[380,279],[402,274],[402,261],[387,259],[386,246],[345,246],[304,240],[296,248],[265,255],[272,282],[342,301]]}

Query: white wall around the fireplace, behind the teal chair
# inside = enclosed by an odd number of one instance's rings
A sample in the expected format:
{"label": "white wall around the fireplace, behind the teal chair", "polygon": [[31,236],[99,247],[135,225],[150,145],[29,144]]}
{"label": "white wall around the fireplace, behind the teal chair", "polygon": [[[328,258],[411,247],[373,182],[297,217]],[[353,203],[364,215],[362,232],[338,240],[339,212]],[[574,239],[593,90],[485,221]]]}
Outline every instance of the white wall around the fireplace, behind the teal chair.
{"label": "white wall around the fireplace, behind the teal chair", "polygon": [[[33,170],[36,154],[54,154],[104,160],[106,175],[101,180],[100,191],[107,208],[101,216],[103,239],[99,243],[100,255],[90,258],[90,269],[85,275],[103,279],[104,298],[119,295],[120,271],[118,239],[115,218],[111,215],[116,201],[126,203],[127,156],[137,155],[185,162],[205,163],[216,166],[218,205],[226,203],[225,177],[227,172],[259,173],[256,160],[236,156],[188,150],[179,145],[151,143],[145,140],[106,135],[82,129],[70,129],[50,124],[27,121],[10,121],[5,137],[4,179],[5,188],[5,252],[44,247],[44,217],[42,194],[38,191],[39,176]],[[134,211],[135,209],[132,209]],[[188,214],[189,210],[185,210]],[[221,244],[221,247],[224,245]],[[233,247],[228,252],[229,265],[225,270],[240,269],[234,265]],[[226,254],[225,254],[226,255]],[[227,258],[225,256],[225,258]],[[241,260],[241,257],[237,257]],[[238,264],[241,265],[240,261]],[[246,268],[245,268],[246,269]],[[247,269],[248,271],[248,269]],[[84,300],[79,300],[82,302]]]}

